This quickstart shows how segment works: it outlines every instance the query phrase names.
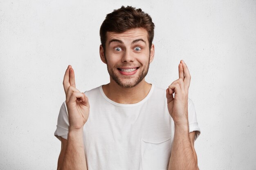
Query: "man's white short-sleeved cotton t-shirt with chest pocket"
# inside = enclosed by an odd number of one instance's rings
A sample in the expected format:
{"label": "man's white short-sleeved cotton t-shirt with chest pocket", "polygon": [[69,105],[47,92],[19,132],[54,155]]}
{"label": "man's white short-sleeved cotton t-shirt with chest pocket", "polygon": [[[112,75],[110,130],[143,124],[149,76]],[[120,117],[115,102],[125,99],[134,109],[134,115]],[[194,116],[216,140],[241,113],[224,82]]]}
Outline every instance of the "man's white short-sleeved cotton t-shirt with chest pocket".
{"label": "man's white short-sleeved cotton t-shirt with chest pocket", "polygon": [[[108,99],[102,86],[86,91],[90,115],[83,127],[88,170],[167,170],[174,136],[168,113],[166,90],[152,85],[136,104]],[[200,134],[194,104],[188,100],[189,132]],[[58,116],[58,139],[67,139],[68,114],[65,102]]]}

